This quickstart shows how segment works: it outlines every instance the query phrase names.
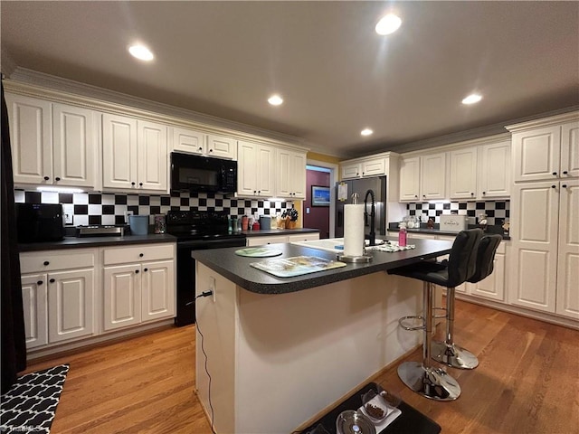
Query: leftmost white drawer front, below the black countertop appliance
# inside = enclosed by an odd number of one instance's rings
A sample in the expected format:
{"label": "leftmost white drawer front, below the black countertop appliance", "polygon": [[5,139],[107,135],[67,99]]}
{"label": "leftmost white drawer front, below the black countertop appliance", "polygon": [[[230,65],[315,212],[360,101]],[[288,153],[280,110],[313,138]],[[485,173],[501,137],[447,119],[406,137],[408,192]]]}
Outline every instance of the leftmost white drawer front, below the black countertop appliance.
{"label": "leftmost white drawer front, below the black countertop appliance", "polygon": [[20,254],[20,271],[25,274],[55,269],[79,269],[94,267],[94,262],[94,250],[72,249],[58,253],[55,250],[34,251]]}

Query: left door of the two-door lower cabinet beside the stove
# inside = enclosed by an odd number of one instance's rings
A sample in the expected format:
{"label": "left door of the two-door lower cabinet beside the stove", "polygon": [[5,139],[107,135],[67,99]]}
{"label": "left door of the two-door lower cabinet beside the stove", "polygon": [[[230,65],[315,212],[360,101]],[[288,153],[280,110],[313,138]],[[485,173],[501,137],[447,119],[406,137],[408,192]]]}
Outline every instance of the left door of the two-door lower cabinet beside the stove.
{"label": "left door of the two-door lower cabinet beside the stove", "polygon": [[104,268],[104,328],[115,330],[141,322],[141,266]]}

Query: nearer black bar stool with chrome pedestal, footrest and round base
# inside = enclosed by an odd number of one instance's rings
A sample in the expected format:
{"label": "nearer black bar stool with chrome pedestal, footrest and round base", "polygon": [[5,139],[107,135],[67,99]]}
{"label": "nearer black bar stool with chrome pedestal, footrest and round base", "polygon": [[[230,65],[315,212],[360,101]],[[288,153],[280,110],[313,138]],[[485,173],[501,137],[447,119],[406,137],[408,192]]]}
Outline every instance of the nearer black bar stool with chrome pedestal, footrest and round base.
{"label": "nearer black bar stool with chrome pedestal, footrest and round base", "polygon": [[[398,366],[398,376],[410,389],[422,396],[436,401],[454,401],[460,396],[459,383],[441,368],[432,366],[431,341],[434,285],[454,288],[464,283],[475,272],[477,245],[482,237],[480,229],[460,231],[452,244],[448,263],[423,261],[398,269],[389,274],[417,278],[424,282],[422,327],[422,363],[404,362]],[[448,297],[448,296],[447,296]],[[405,317],[406,318],[406,317]],[[404,318],[401,318],[402,324]],[[413,329],[412,327],[405,327]]]}

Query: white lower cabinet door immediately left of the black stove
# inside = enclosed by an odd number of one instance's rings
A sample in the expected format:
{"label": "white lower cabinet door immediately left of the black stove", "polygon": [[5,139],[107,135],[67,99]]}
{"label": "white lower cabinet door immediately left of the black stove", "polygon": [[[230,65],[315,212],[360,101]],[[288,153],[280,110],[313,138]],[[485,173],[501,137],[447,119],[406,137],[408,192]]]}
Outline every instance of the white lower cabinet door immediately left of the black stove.
{"label": "white lower cabinet door immediately left of the black stove", "polygon": [[142,322],[175,316],[175,260],[144,262],[142,270]]}

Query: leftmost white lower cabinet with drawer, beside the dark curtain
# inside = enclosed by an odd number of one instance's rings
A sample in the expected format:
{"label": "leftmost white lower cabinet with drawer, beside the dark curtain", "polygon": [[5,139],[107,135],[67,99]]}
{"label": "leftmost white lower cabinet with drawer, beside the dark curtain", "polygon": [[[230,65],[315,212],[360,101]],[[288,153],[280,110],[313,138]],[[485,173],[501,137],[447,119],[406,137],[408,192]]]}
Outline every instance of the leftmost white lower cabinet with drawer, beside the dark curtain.
{"label": "leftmost white lower cabinet with drawer, beside the dark curtain", "polygon": [[93,335],[96,250],[21,254],[26,348]]}

